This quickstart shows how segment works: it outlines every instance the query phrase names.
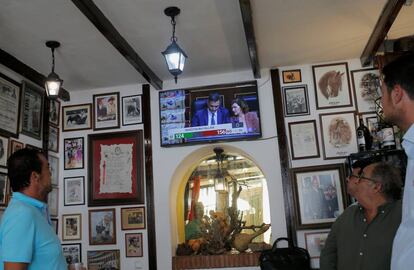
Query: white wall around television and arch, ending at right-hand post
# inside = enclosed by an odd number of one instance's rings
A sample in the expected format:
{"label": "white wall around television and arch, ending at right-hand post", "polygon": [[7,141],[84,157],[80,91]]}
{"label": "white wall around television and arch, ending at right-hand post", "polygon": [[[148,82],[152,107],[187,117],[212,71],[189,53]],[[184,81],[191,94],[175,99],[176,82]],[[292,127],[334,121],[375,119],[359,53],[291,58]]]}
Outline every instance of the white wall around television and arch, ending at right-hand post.
{"label": "white wall around television and arch, ending at right-hand post", "polygon": [[[253,80],[251,72],[240,72],[221,74],[215,76],[205,76],[192,78],[187,80],[179,80],[176,85],[173,81],[165,82],[164,89],[187,88],[203,85],[232,83]],[[252,159],[263,171],[267,181],[270,198],[270,212],[272,222],[273,239],[286,236],[286,223],[283,203],[282,183],[279,169],[279,154],[276,138],[276,124],[273,110],[272,88],[269,71],[262,71],[263,79],[258,80],[260,115],[262,119],[263,138],[254,141],[240,141],[220,143],[225,151],[238,152]],[[93,89],[90,91],[72,91],[70,102],[62,103],[62,106],[90,103],[92,95],[98,93],[120,92],[122,96],[141,94],[141,85],[127,85],[119,87],[109,87],[101,89]],[[171,269],[171,258],[175,255],[175,248],[178,244],[176,229],[176,191],[178,184],[183,180],[184,174],[187,173],[198,160],[206,155],[211,155],[213,148],[217,144],[201,144],[183,147],[160,147],[160,130],[159,130],[159,102],[158,91],[151,88],[151,120],[152,120],[152,143],[153,143],[153,165],[154,165],[154,205],[155,205],[155,221],[156,221],[156,245],[157,245],[157,266],[158,269]],[[99,131],[99,133],[116,132],[120,130],[142,129],[142,125],[121,127],[121,129],[111,129]],[[61,133],[60,145],[61,153],[63,151],[63,139],[84,136],[85,137],[85,169],[83,170],[63,170],[63,155],[61,158],[61,181],[63,177],[85,176],[87,179],[87,134],[92,130],[73,131]],[[87,187],[86,187],[87,189]],[[86,190],[87,193],[87,190]],[[60,198],[63,198],[63,189],[60,190]],[[110,206],[112,208],[112,206]],[[116,208],[117,222],[117,244],[109,246],[89,246],[88,244],[88,208],[87,206],[63,206],[63,200],[60,199],[60,213],[82,214],[82,258],[86,263],[87,250],[101,249],[120,249],[122,267],[124,269],[148,269],[148,250],[144,248],[143,258],[125,258],[124,235],[126,231],[121,231],[120,224],[120,208],[122,206],[114,206]],[[108,207],[93,207],[93,209]],[[147,224],[148,226],[148,224]],[[131,231],[128,231],[128,233]],[[146,230],[143,232],[144,243],[147,241]],[[61,232],[60,232],[61,233]],[[73,241],[77,243],[79,241]],[[72,242],[68,242],[72,243]],[[138,267],[137,267],[138,265]],[[246,268],[249,269],[249,268]],[[253,269],[253,268],[251,268]],[[257,268],[254,268],[257,269]]]}

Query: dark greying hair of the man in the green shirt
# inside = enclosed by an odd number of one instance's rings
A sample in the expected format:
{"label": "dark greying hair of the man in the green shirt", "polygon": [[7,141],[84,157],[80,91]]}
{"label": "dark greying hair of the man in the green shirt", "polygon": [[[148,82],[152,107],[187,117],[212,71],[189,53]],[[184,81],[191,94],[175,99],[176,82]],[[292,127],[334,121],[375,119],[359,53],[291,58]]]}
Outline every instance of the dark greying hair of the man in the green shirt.
{"label": "dark greying hair of the man in the green shirt", "polygon": [[381,161],[375,164],[371,178],[377,179],[381,183],[381,192],[388,200],[401,199],[401,173],[396,166]]}

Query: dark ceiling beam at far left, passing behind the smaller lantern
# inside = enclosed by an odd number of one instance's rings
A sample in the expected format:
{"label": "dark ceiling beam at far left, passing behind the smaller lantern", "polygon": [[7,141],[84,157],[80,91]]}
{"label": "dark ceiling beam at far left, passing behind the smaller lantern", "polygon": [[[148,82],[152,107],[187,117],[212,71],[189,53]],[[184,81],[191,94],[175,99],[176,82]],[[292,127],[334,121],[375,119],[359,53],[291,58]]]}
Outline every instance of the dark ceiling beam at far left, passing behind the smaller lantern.
{"label": "dark ceiling beam at far left, passing behind the smaller lantern", "polygon": [[[13,55],[9,54],[8,52],[0,49],[0,64],[4,65],[5,67],[13,70],[17,74],[22,75],[23,77],[27,78],[28,80],[32,81],[33,83],[39,85],[41,88],[45,88],[46,77],[34,70],[33,68],[29,67]],[[59,98],[63,101],[70,100],[70,94],[64,88],[60,88],[59,91]]]}

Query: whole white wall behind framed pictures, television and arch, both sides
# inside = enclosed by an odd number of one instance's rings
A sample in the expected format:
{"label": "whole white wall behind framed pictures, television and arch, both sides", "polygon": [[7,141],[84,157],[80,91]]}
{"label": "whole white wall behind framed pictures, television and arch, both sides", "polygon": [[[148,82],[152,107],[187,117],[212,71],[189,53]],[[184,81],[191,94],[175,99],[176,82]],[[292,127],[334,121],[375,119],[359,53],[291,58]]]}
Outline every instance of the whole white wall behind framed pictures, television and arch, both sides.
{"label": "whole white wall behind framed pictures, television and arch, both sides", "polygon": [[[351,70],[360,69],[361,65],[359,59],[342,60],[335,62],[348,63],[349,72]],[[296,65],[281,67],[280,72],[283,70],[300,69],[302,73],[302,82],[298,84],[306,84],[308,87],[310,115],[299,117],[286,117],[285,128],[288,135],[288,123],[303,121],[303,120],[317,120],[317,134],[319,138],[319,147],[321,147],[321,134],[320,123],[318,121],[319,113],[329,113],[338,111],[353,111],[355,110],[355,102],[353,107],[345,109],[326,109],[316,110],[314,85],[312,77],[312,65]],[[24,78],[16,74],[4,66],[0,66],[0,72],[9,76],[10,78],[21,82]],[[350,75],[350,74],[349,74]],[[164,89],[175,88],[187,88],[197,87],[204,85],[213,85],[221,83],[242,82],[254,79],[250,71],[226,73],[218,75],[209,75],[203,77],[179,79],[178,84],[175,84],[173,80],[164,82]],[[351,84],[351,82],[350,82]],[[281,82],[281,86],[283,82]],[[287,86],[287,85],[286,85]],[[289,84],[291,86],[291,84]],[[352,85],[350,85],[352,87]],[[153,145],[153,166],[154,166],[154,205],[155,205],[155,227],[156,227],[156,246],[157,246],[157,266],[158,269],[170,269],[171,257],[175,255],[175,248],[179,243],[178,231],[177,231],[177,218],[182,215],[177,214],[177,193],[180,185],[182,186],[188,179],[191,170],[206,156],[213,153],[215,146],[221,146],[224,150],[231,153],[238,153],[244,155],[255,162],[258,167],[263,171],[265,178],[267,179],[267,185],[269,190],[270,200],[270,213],[272,222],[272,239],[277,237],[286,236],[286,221],[284,212],[284,200],[282,180],[280,174],[280,161],[278,154],[278,143],[276,133],[275,111],[273,108],[272,97],[272,85],[270,80],[269,70],[262,70],[262,78],[258,80],[259,88],[259,102],[260,102],[260,114],[261,114],[261,127],[263,136],[261,139],[251,141],[235,141],[235,142],[223,142],[214,144],[200,144],[180,147],[161,147],[160,146],[160,129],[159,129],[159,103],[158,103],[158,91],[151,88],[151,121],[152,121],[152,145]],[[82,103],[91,103],[92,96],[99,93],[108,92],[120,92],[120,99],[122,96],[141,94],[141,85],[124,85],[116,87],[107,87],[100,89],[71,91],[70,102],[62,102],[62,106],[75,105]],[[353,91],[351,91],[352,98]],[[116,132],[124,130],[136,130],[143,129],[143,125],[135,126],[122,126],[119,129],[112,129],[106,131],[100,131],[99,133]],[[121,231],[120,222],[120,208],[121,206],[113,206],[116,208],[116,227],[117,227],[117,244],[109,246],[89,246],[88,243],[88,210],[86,206],[63,206],[63,178],[71,176],[85,176],[87,180],[87,134],[94,133],[92,130],[86,131],[72,131],[61,132],[59,142],[59,154],[56,155],[60,159],[59,168],[59,235],[61,235],[62,224],[61,217],[63,214],[82,214],[82,241],[73,241],[66,243],[80,242],[82,244],[82,260],[86,263],[86,251],[95,249],[120,249],[121,265],[126,269],[148,269],[148,250],[147,250],[147,235],[146,230],[140,230],[137,232],[143,233],[144,257],[142,258],[126,258],[125,257],[125,245],[124,237],[125,232]],[[71,137],[84,137],[85,138],[85,168],[81,170],[63,170],[63,140],[64,138]],[[289,138],[288,138],[289,139]],[[41,147],[41,142],[25,135],[19,136],[19,141],[29,143],[34,146]],[[289,142],[290,144],[290,142]],[[321,152],[322,153],[322,152]],[[304,167],[325,165],[332,163],[342,163],[344,159],[335,160],[323,160],[321,158],[305,159],[305,160],[291,160],[291,166]],[[87,194],[87,185],[85,193]],[[110,206],[112,207],[112,206]],[[108,208],[108,207],[104,207]],[[179,208],[179,207],[178,207]],[[293,211],[293,209],[291,210]],[[168,224],[168,226],[166,226]],[[147,224],[148,226],[148,224]],[[306,230],[298,230],[298,244],[304,245],[304,233]]]}

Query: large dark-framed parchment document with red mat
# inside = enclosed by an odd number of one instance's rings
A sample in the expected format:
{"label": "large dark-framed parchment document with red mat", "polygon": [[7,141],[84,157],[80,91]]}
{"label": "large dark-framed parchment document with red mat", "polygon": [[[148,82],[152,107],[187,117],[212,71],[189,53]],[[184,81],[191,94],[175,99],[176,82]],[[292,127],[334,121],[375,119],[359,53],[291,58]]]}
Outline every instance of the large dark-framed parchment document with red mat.
{"label": "large dark-framed parchment document with red mat", "polygon": [[142,130],[88,135],[88,206],[144,203]]}

